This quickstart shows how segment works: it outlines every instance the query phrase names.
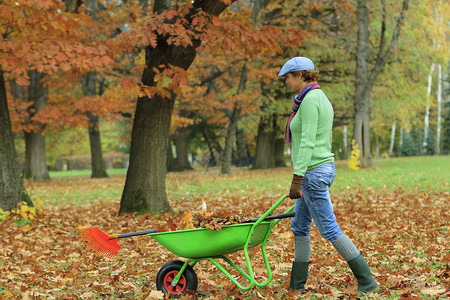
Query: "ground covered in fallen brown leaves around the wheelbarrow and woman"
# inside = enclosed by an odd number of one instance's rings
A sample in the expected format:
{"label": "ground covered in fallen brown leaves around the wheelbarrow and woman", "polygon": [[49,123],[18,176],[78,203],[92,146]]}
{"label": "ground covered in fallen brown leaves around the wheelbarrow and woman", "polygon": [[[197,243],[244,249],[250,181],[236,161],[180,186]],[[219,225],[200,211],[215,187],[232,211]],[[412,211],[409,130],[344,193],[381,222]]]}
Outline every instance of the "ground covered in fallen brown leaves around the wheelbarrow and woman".
{"label": "ground covered in fallen brown leaves around the wheelbarrow and woman", "polygon": [[[252,173],[252,176],[255,176]],[[267,175],[262,172],[261,176]],[[169,176],[172,189],[182,179]],[[207,175],[209,176],[209,175]],[[243,176],[248,176],[243,175]],[[242,177],[244,178],[244,177]],[[236,176],[235,181],[240,177]],[[245,179],[242,179],[245,180]],[[146,299],[155,293],[155,277],[166,262],[179,259],[148,236],[121,239],[113,260],[105,259],[80,240],[78,225],[98,226],[110,234],[155,228],[170,230],[170,223],[181,222],[189,211],[199,210],[206,201],[209,211],[262,215],[279,194],[211,191],[208,197],[179,191],[170,197],[173,214],[117,216],[120,196],[93,196],[93,191],[120,190],[123,176],[91,180],[88,178],[33,183],[31,193],[48,203],[30,226],[16,219],[0,223],[0,299]],[[274,188],[280,190],[278,186]],[[59,195],[96,198],[58,203]],[[55,193],[55,194],[53,194]],[[47,197],[45,196],[47,195]],[[60,196],[63,197],[63,196]],[[373,299],[447,299],[450,297],[450,243],[448,191],[427,192],[348,189],[333,192],[335,214],[343,231],[364,255],[380,285]],[[103,200],[102,200],[103,199]],[[52,203],[52,204],[50,204]],[[275,213],[291,205],[287,199]],[[16,220],[16,222],[14,222]],[[170,221],[169,221],[170,220]],[[213,241],[211,241],[213,242]],[[331,244],[312,230],[312,263],[307,293],[286,292],[294,255],[289,221],[274,228],[267,252],[273,280],[265,288],[242,291],[209,262],[195,266],[199,278],[196,295],[189,299],[350,299],[358,297],[356,281],[347,264]],[[260,280],[266,278],[263,257],[251,251],[252,265]],[[230,258],[243,264],[242,253]],[[236,272],[234,272],[236,274]],[[240,278],[245,283],[243,278]],[[157,296],[155,296],[157,299]],[[150,297],[149,297],[150,298]]]}

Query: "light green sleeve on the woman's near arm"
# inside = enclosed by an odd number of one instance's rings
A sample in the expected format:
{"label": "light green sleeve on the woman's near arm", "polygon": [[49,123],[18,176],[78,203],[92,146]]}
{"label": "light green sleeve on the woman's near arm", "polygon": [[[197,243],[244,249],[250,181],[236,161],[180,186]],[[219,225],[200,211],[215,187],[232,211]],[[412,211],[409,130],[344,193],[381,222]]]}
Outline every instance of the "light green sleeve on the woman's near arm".
{"label": "light green sleeve on the woman's near arm", "polygon": [[319,109],[314,97],[306,96],[300,105],[300,118],[302,124],[301,140],[298,148],[297,161],[294,174],[303,176],[311,161],[314,145],[316,144]]}

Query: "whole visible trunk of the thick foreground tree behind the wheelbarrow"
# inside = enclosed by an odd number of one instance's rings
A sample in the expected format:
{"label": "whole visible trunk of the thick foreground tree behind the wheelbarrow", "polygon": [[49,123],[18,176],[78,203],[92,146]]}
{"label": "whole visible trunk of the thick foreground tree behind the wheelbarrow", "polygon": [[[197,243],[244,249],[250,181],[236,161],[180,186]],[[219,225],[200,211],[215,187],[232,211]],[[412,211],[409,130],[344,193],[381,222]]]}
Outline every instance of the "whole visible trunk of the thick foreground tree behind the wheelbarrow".
{"label": "whole visible trunk of the thick foreground tree behind the wheelbarrow", "polygon": [[[155,2],[155,11],[168,8],[168,1]],[[218,16],[227,4],[220,0],[194,1],[185,16],[189,24],[198,10]],[[176,46],[167,43],[168,37],[158,36],[157,46],[145,48],[146,68],[142,83],[155,86],[155,69],[161,65],[173,65],[187,70],[196,56],[201,40],[193,39],[192,45]],[[120,201],[119,214],[127,212],[157,213],[171,211],[166,196],[167,138],[175,95],[163,98],[154,95],[137,100],[133,129],[131,132],[130,165]]]}

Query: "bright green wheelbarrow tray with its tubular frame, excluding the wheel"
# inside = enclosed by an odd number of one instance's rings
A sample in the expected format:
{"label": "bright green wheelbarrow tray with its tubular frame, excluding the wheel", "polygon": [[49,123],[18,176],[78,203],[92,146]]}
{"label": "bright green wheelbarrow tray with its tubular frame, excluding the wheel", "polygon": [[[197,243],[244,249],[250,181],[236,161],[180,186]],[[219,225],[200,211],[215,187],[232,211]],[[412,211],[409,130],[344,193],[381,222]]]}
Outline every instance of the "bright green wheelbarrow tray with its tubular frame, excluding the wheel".
{"label": "bright green wheelbarrow tray with its tubular frame, excluding the wheel", "polygon": [[[208,230],[206,228],[188,229],[169,231],[161,233],[149,234],[163,247],[174,253],[175,255],[188,258],[180,269],[178,275],[172,281],[172,285],[176,286],[183,272],[188,266],[194,267],[201,260],[209,260],[220,271],[222,271],[233,283],[240,289],[248,290],[253,286],[266,286],[272,280],[272,271],[270,269],[269,260],[266,255],[265,246],[272,228],[281,221],[266,222],[263,221],[272,211],[277,208],[287,195],[281,197],[269,210],[267,210],[256,222],[226,225],[221,230]],[[294,206],[290,207],[286,213],[294,210]],[[257,282],[253,268],[251,265],[248,249],[261,245],[261,253],[267,270],[267,280],[265,282]],[[237,251],[244,251],[246,260],[246,270],[233,263],[226,254]],[[236,269],[249,282],[247,285],[239,283],[217,260],[222,259],[232,268]]]}

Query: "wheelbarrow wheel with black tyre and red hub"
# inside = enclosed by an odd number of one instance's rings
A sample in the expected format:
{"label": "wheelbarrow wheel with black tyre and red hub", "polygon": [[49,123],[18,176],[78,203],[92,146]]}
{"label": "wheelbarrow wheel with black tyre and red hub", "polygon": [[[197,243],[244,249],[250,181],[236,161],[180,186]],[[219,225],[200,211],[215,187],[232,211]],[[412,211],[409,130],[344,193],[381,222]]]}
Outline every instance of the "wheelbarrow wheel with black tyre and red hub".
{"label": "wheelbarrow wheel with black tyre and red hub", "polygon": [[197,290],[197,274],[195,274],[194,269],[190,265],[187,266],[183,275],[181,275],[177,285],[172,285],[173,279],[178,275],[183,265],[184,262],[181,260],[172,260],[162,266],[156,275],[156,288],[174,297],[180,297],[187,290]]}

